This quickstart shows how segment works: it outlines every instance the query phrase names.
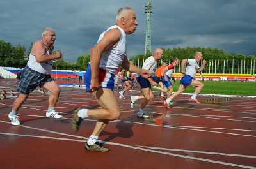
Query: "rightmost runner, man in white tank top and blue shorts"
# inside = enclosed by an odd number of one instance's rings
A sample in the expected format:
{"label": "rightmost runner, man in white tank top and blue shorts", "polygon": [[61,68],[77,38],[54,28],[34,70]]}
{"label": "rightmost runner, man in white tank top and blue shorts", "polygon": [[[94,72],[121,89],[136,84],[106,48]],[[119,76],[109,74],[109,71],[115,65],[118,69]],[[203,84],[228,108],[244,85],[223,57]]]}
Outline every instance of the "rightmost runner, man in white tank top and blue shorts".
{"label": "rightmost runner, man in white tank top and blue shorts", "polygon": [[[202,66],[199,67],[197,62],[202,61]],[[180,86],[177,92],[172,94],[172,96],[168,99],[166,99],[166,104],[169,105],[170,101],[172,101],[173,98],[178,96],[180,93],[182,93],[188,85],[195,87],[195,92],[190,98],[190,101],[193,101],[194,103],[200,103],[197,99],[196,96],[202,88],[204,87],[204,84],[198,80],[195,80],[195,75],[196,73],[200,73],[202,70],[204,70],[205,64],[207,62],[203,59],[202,53],[201,52],[195,52],[195,58],[194,59],[183,59],[181,62],[181,73],[184,74],[184,76],[180,80]],[[185,66],[186,71],[185,71]]]}

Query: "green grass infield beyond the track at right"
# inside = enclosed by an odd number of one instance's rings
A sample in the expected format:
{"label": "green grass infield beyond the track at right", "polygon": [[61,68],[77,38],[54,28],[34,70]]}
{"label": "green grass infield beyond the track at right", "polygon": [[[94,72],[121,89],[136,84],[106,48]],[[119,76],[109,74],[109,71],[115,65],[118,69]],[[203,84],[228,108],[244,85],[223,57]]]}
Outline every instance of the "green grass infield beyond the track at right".
{"label": "green grass infield beyond the track at right", "polygon": [[[205,81],[204,89],[200,93],[204,94],[227,94],[239,96],[256,96],[256,82],[216,82]],[[173,84],[173,92],[176,92],[180,85],[177,80]],[[156,90],[155,90],[156,91]],[[187,87],[184,92],[193,93],[194,87]]]}

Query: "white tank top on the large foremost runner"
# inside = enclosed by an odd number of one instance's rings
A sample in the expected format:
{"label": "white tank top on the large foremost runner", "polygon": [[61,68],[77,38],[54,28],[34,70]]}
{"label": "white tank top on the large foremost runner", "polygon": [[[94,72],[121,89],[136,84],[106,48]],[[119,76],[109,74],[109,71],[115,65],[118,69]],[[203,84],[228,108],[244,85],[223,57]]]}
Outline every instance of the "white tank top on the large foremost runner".
{"label": "white tank top on the large foremost runner", "polygon": [[[121,27],[116,25],[109,27],[106,31],[108,31],[109,29],[115,29],[115,28],[118,28],[121,32],[120,40],[118,41],[118,44],[116,45],[116,47],[109,48],[109,50],[102,52],[101,59],[100,59],[100,68],[113,74],[117,70],[118,66],[122,64],[124,60],[124,55],[126,55],[125,31]],[[99,41],[102,40],[106,31],[100,34],[100,37],[97,43],[99,43]]]}

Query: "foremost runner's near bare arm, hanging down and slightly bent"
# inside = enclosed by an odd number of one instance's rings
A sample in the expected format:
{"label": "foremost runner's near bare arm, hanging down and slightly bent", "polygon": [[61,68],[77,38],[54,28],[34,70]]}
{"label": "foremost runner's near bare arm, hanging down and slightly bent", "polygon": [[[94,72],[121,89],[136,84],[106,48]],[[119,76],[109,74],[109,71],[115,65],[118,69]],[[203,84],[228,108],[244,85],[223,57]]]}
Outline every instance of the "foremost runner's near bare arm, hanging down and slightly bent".
{"label": "foremost runner's near bare arm, hanging down and slightly bent", "polygon": [[99,88],[99,64],[102,52],[108,50],[108,48],[114,47],[120,40],[120,37],[121,33],[118,29],[110,29],[104,34],[102,40],[92,48],[90,54],[90,62],[92,66],[91,91],[97,91]]}

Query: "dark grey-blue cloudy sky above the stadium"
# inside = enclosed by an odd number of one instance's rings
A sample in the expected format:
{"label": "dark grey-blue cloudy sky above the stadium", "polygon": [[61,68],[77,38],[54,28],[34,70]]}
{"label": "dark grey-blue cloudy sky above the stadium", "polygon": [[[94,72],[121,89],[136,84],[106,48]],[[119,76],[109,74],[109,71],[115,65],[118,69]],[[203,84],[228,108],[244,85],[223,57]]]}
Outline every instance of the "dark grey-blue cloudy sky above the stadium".
{"label": "dark grey-blue cloudy sky above the stadium", "polygon": [[[255,0],[153,0],[152,49],[216,47],[256,55]],[[145,0],[1,0],[0,40],[29,47],[45,27],[56,30],[65,61],[89,54],[116,11],[131,6],[138,29],[127,37],[127,54],[145,51]]]}

